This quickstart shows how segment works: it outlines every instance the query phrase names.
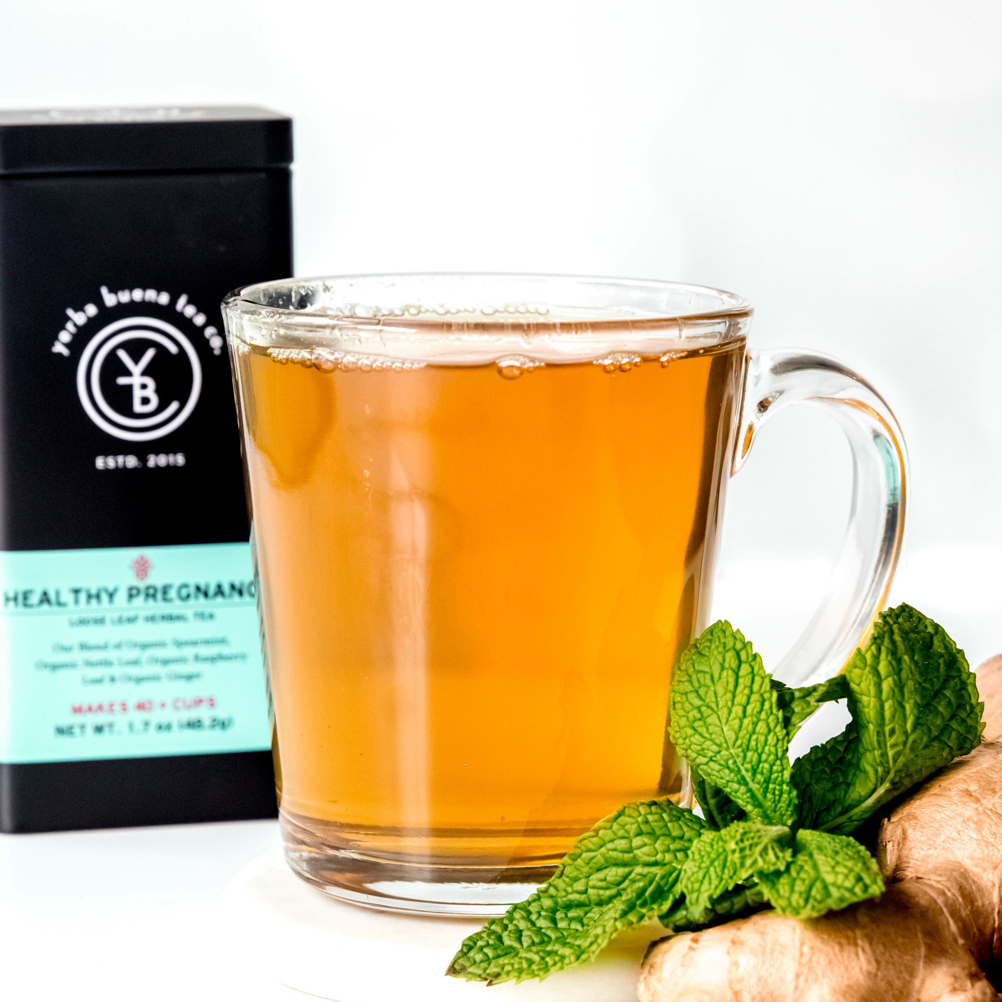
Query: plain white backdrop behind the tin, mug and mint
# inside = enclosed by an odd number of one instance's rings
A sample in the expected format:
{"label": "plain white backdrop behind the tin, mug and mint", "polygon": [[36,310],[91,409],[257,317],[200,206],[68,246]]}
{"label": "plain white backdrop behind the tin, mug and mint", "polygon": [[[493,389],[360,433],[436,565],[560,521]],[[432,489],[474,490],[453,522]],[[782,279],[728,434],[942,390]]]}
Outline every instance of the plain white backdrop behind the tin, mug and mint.
{"label": "plain white backdrop behind the tin, mug and mint", "polygon": [[[756,344],[837,355],[899,415],[913,478],[895,597],[972,661],[1002,649],[997,0],[0,11],[0,106],[294,115],[301,275],[583,273],[748,297]],[[733,484],[718,611],[767,662],[820,594],[848,478],[837,433],[795,411]]]}

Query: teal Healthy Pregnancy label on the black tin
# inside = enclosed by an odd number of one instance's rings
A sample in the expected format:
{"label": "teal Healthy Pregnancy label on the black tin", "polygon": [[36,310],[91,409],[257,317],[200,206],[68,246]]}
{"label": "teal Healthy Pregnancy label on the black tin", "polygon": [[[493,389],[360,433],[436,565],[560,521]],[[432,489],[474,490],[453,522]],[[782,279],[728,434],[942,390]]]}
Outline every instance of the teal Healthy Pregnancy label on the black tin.
{"label": "teal Healthy Pregnancy label on the black tin", "polygon": [[247,543],[0,553],[0,762],[270,746]]}

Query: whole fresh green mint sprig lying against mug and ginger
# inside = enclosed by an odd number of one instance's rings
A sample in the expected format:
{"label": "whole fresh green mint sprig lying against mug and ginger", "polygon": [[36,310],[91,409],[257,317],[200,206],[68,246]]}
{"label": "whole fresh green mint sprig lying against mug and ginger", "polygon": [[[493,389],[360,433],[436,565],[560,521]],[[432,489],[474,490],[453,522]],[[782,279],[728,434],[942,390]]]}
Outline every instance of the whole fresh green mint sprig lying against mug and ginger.
{"label": "whole fresh green mint sprig lying against mug and ginger", "polygon": [[[852,722],[791,769],[790,738],[843,698]],[[468,937],[448,974],[544,978],[654,916],[679,932],[770,905],[809,919],[878,897],[880,869],[851,833],[972,750],[984,727],[963,652],[908,605],[880,616],[843,674],[802,688],[772,679],[716,622],[679,659],[669,703],[702,818],[668,800],[621,808],[535,894]]]}

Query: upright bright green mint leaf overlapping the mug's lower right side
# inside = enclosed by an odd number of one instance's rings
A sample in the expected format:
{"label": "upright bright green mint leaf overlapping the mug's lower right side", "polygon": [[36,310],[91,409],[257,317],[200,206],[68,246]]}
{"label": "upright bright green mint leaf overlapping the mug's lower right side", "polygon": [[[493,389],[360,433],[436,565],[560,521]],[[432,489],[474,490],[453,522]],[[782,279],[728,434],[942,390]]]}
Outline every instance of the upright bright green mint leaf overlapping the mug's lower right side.
{"label": "upright bright green mint leaf overlapping the mug's lower right side", "polygon": [[762,658],[729,623],[703,630],[671,679],[670,736],[706,783],[752,821],[793,825],[787,730]]}

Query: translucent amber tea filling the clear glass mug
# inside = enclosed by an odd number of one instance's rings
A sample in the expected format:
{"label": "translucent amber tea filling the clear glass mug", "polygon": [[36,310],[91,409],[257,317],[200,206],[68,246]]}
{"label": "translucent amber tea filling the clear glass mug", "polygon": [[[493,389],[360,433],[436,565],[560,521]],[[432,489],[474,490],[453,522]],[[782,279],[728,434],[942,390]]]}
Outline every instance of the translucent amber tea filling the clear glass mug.
{"label": "translucent amber tea filling the clear glass mug", "polygon": [[709,583],[742,350],[240,356],[287,817],[360,852],[539,865],[679,792],[670,666]]}

